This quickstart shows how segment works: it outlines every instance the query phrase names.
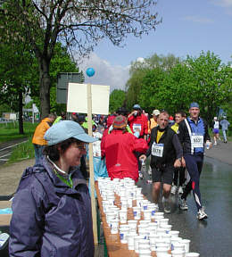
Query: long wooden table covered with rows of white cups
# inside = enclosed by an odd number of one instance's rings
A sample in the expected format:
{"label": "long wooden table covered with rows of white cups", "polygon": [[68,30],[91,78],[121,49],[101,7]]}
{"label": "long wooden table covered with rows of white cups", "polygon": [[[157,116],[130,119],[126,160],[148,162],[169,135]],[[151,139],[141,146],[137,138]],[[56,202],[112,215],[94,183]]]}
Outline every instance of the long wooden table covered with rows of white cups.
{"label": "long wooden table covered with rows of white cups", "polygon": [[130,178],[98,178],[95,191],[107,253],[104,256],[197,257],[190,240],[171,230],[169,219],[142,195]]}

